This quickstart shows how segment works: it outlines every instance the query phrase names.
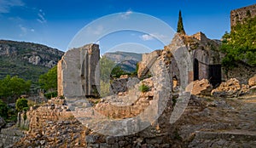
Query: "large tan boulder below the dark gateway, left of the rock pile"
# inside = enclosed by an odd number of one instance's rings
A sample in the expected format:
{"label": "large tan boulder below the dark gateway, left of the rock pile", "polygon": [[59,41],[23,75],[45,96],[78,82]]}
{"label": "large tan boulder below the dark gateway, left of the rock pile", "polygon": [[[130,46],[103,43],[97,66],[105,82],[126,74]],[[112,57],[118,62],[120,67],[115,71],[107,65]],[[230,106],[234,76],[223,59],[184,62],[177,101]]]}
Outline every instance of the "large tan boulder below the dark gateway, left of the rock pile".
{"label": "large tan boulder below the dark gateway, left of the rock pile", "polygon": [[210,95],[212,92],[212,85],[207,79],[202,79],[201,81],[196,80],[193,82],[193,89],[191,94],[194,95]]}

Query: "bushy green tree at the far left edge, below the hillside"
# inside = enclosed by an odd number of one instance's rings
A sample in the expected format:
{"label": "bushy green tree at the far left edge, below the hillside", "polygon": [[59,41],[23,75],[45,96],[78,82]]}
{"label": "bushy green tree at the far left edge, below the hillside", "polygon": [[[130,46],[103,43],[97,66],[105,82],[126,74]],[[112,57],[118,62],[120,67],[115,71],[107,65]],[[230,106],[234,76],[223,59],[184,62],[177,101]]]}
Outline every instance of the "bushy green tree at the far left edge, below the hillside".
{"label": "bushy green tree at the far left edge, below the hillside", "polygon": [[25,81],[17,76],[10,77],[9,75],[3,80],[0,80],[0,98],[17,99],[20,94],[26,94],[31,87],[31,81]]}

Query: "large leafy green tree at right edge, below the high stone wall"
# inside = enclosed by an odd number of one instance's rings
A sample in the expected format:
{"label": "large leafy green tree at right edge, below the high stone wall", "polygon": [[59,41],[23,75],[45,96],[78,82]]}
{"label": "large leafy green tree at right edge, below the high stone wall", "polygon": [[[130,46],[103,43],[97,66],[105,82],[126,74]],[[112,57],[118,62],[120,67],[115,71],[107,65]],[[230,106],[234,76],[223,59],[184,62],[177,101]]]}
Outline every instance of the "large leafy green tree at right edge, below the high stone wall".
{"label": "large leafy green tree at right edge, below the high stone wall", "polygon": [[247,18],[225,32],[221,51],[225,54],[222,64],[226,70],[243,61],[256,66],[256,17]]}

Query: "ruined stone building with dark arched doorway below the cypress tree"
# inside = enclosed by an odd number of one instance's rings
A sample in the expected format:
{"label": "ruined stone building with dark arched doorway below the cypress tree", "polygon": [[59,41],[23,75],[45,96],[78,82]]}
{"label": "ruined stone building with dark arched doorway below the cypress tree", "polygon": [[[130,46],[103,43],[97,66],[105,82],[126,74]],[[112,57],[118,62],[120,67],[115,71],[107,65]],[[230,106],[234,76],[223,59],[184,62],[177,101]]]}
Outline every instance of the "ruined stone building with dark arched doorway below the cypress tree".
{"label": "ruined stone building with dark arched doorway below the cypress tree", "polygon": [[[189,83],[195,80],[208,79],[213,86],[222,82],[221,71],[221,55],[218,51],[218,41],[208,39],[205,34],[198,32],[195,35],[176,35],[182,38],[186,48],[189,51],[193,70],[189,72]],[[175,37],[174,37],[175,38]],[[149,54],[143,54],[143,60],[139,63],[138,77],[148,75],[152,62],[161,54],[166,54],[172,62],[170,62],[173,83],[180,85],[180,71],[177,65],[177,60],[171,53],[173,43],[167,45],[163,50],[156,50]],[[177,57],[176,57],[177,58]],[[182,57],[180,57],[181,59]],[[179,59],[179,60],[180,60]]]}

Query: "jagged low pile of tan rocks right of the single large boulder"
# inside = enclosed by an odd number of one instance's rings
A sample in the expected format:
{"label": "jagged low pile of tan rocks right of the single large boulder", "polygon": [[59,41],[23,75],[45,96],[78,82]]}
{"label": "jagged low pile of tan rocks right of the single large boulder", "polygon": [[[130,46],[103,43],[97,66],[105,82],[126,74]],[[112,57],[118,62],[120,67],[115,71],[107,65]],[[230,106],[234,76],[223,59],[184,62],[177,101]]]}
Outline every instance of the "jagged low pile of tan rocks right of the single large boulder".
{"label": "jagged low pile of tan rocks right of the single large boulder", "polygon": [[246,94],[248,91],[248,85],[240,85],[236,78],[231,78],[226,83],[221,83],[218,88],[213,89],[212,95],[215,97],[237,97]]}

